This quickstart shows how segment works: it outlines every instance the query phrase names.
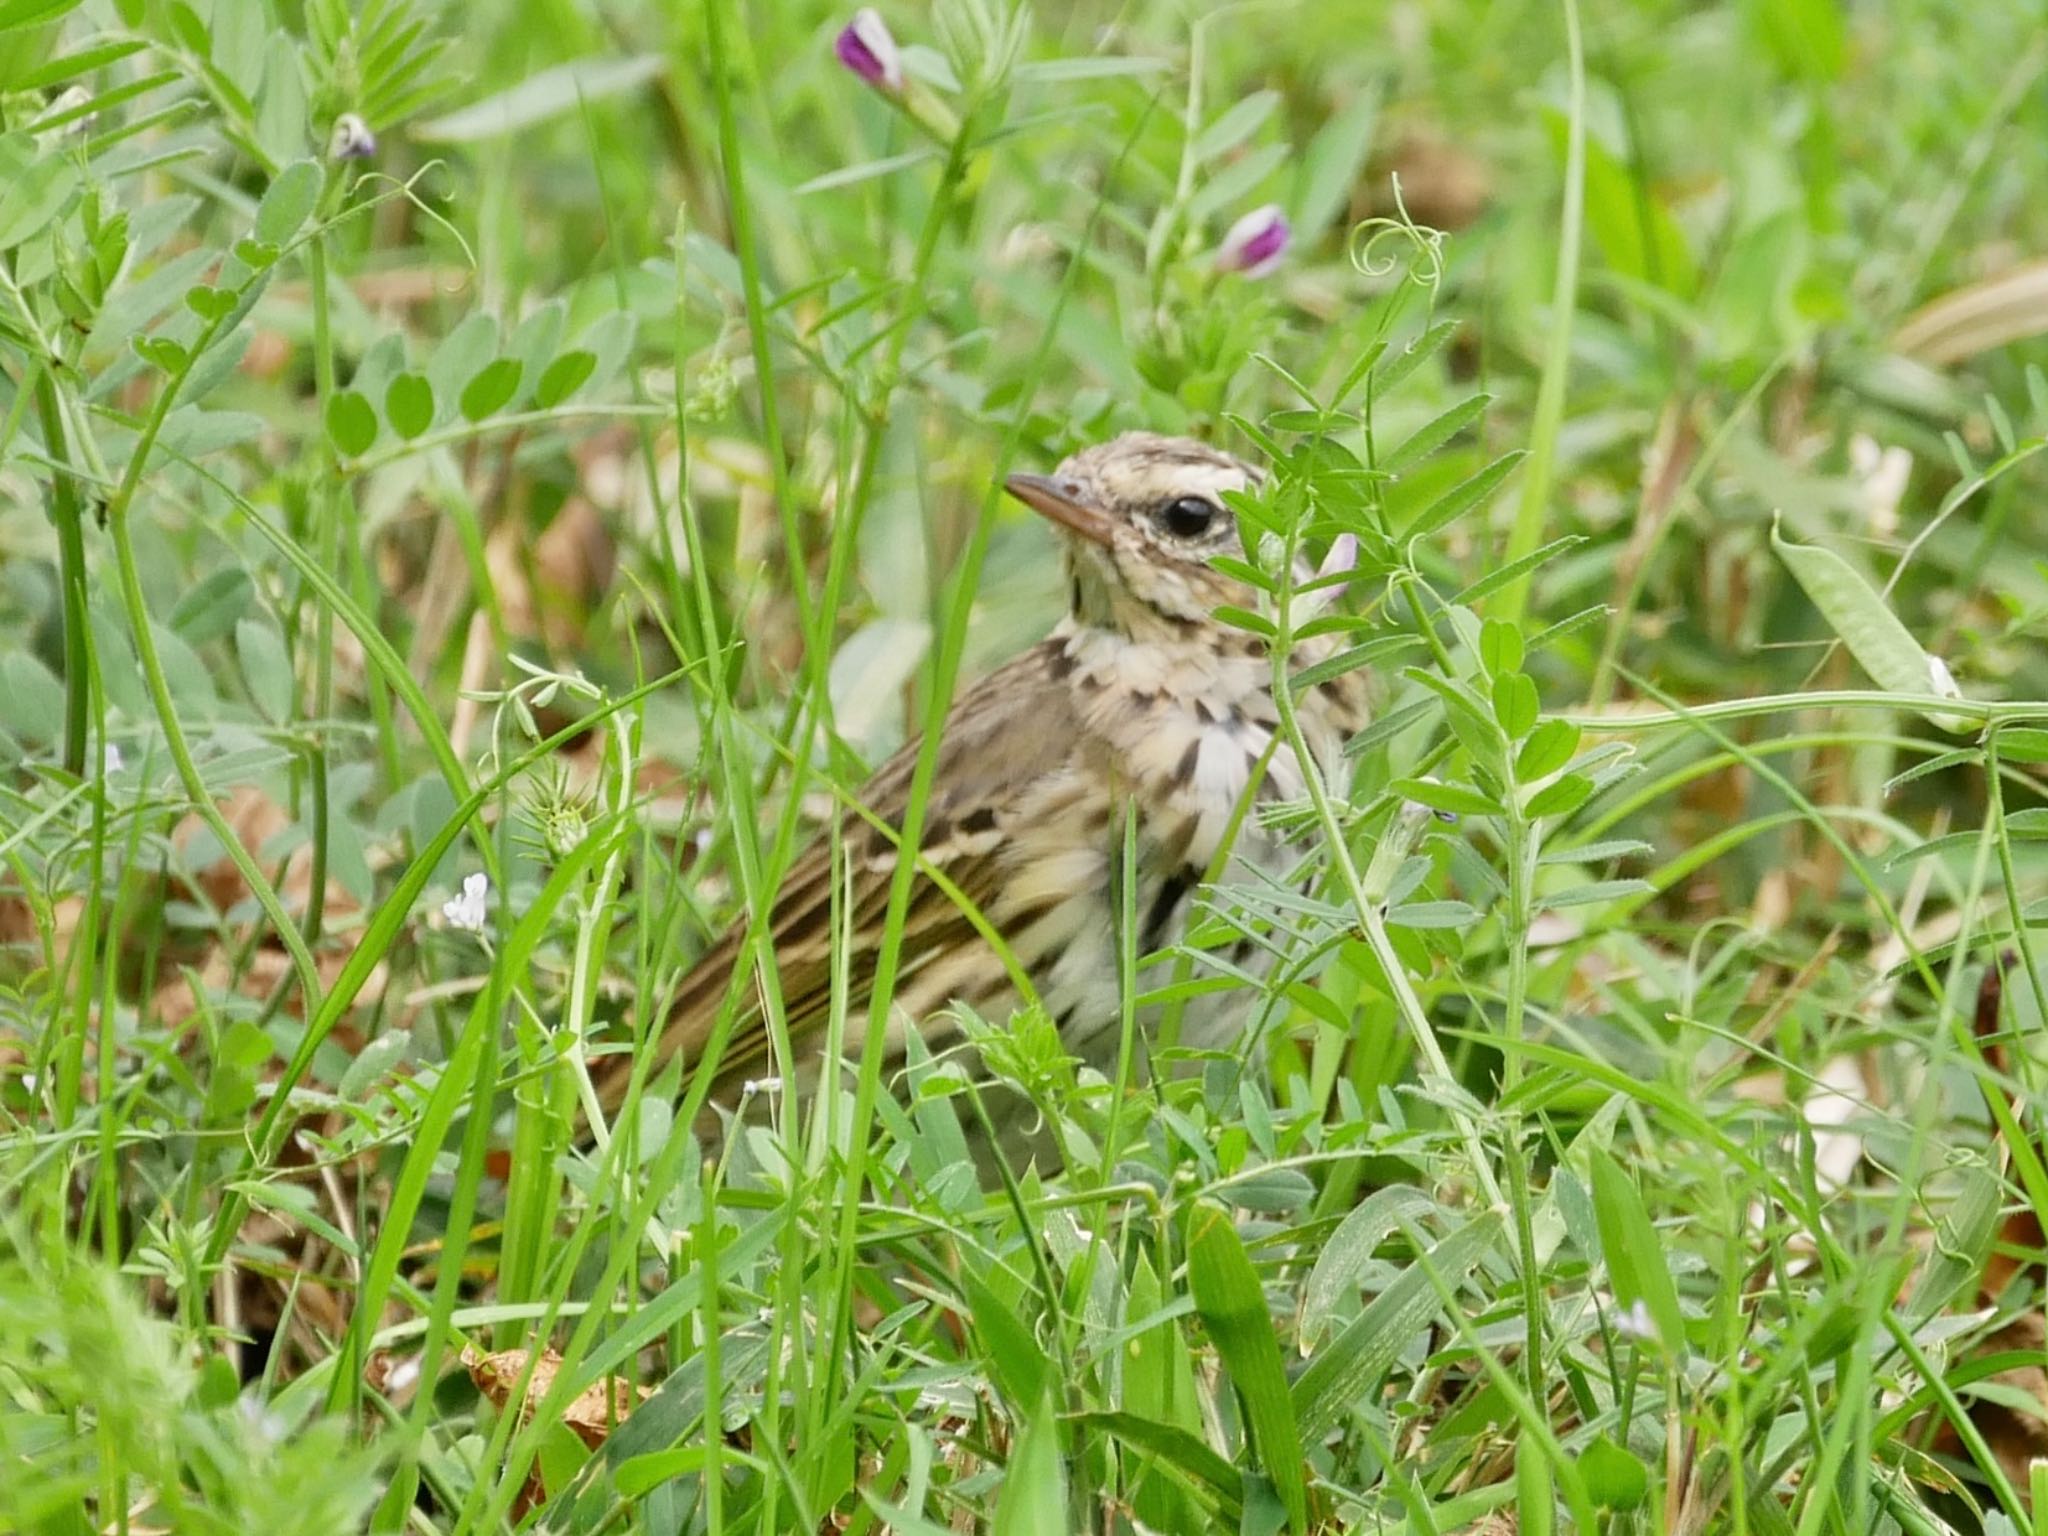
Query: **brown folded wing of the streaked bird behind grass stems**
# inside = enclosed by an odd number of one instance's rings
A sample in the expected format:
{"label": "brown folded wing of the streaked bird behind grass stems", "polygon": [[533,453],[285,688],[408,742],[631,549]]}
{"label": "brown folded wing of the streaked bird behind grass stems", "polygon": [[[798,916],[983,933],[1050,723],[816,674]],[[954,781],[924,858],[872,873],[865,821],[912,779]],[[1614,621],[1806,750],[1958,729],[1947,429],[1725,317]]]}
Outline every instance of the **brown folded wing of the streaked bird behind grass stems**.
{"label": "brown folded wing of the streaked bird behind grass stems", "polygon": [[[991,672],[954,700],[946,715],[932,793],[926,799],[922,860],[958,891],[958,901],[920,874],[911,885],[903,922],[899,975],[956,944],[979,944],[963,901],[977,911],[999,889],[999,852],[1012,836],[1026,786],[1057,772],[1073,754],[1079,721],[1061,666],[1059,641],[1044,641]],[[883,834],[858,811],[840,819],[852,932],[848,956],[848,1012],[866,1006],[874,985],[874,944],[889,907],[895,877],[895,829],[903,823],[909,784],[918,766],[918,739],[885,762],[858,795],[870,815],[889,825]],[[831,1008],[831,840],[819,838],[791,864],[770,915],[770,961],[782,991],[791,1038],[823,1026]],[[733,965],[745,936],[735,924],[682,979],[662,1028],[657,1061],[705,1049],[731,987]],[[991,956],[993,958],[993,956]],[[768,1057],[760,981],[737,1004],[733,1032],[719,1053],[721,1083],[758,1073]],[[614,1055],[598,1073],[600,1098],[616,1106],[631,1075],[631,1057]]]}

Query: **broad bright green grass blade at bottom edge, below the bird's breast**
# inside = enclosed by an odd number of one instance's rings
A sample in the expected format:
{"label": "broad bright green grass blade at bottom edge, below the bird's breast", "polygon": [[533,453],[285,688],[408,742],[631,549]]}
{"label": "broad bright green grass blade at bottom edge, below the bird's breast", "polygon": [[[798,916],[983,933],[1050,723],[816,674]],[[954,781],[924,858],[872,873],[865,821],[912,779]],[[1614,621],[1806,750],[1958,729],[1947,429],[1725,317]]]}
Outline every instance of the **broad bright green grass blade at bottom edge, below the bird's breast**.
{"label": "broad bright green grass blade at bottom edge, below the bird's breast", "polygon": [[1307,1530],[1309,1485],[1303,1479],[1300,1432],[1266,1290],[1229,1214],[1202,1204],[1188,1225],[1188,1286],[1196,1317],[1231,1374],[1260,1466],[1272,1479],[1288,1524],[1296,1532]]}

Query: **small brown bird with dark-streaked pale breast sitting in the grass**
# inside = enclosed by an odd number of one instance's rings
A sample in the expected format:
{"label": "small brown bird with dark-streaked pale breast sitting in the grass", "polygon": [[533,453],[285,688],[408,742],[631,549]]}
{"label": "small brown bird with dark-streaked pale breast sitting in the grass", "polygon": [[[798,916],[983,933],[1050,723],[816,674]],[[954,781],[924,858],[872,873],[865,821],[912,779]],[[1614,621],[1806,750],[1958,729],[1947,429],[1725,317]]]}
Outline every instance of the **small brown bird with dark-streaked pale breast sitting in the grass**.
{"label": "small brown bird with dark-streaked pale breast sitting in the grass", "polygon": [[[944,883],[920,879],[903,926],[901,965],[887,1036],[922,1028],[940,1051],[958,1038],[944,1012],[967,1004],[1001,1022],[1018,989],[965,903],[1001,934],[1059,1026],[1067,1053],[1102,1071],[1118,1049],[1118,940],[1122,827],[1137,807],[1135,911],[1139,954],[1174,944],[1196,885],[1239,823],[1231,860],[1270,874],[1292,862],[1239,801],[1303,795],[1303,772],[1278,733],[1272,655],[1264,641],[1219,623],[1225,604],[1257,594],[1210,565],[1241,555],[1225,492],[1260,483],[1260,471],[1188,438],[1130,432],[1073,455],[1053,475],[1012,475],[1008,489],[1065,535],[1071,606],[1053,635],[961,694],[946,717],[922,854]],[[1309,639],[1294,662],[1335,649]],[[1364,725],[1356,674],[1303,690],[1303,737],[1325,776],[1341,774],[1341,743]],[[891,827],[903,821],[918,741],[860,791]],[[1264,762],[1264,772],[1260,764]],[[1341,778],[1339,778],[1341,788]],[[856,1057],[872,987],[895,840],[846,815],[850,874],[848,1055]],[[817,1049],[831,1001],[831,848],[819,842],[788,870],[772,913],[772,954],[791,1040]],[[662,1059],[696,1059],[713,1034],[741,942],[735,928],[684,977],[659,1036]],[[1235,956],[1253,958],[1247,942]],[[1182,1044],[1229,1044],[1243,1028],[1243,993],[1196,999]],[[858,1057],[856,1057],[858,1059]],[[799,1063],[801,1065],[801,1063]],[[758,995],[741,1006],[719,1059],[729,1094],[741,1077],[774,1071]],[[600,1063],[600,1096],[625,1090],[631,1059]],[[803,1069],[815,1077],[815,1063]]]}

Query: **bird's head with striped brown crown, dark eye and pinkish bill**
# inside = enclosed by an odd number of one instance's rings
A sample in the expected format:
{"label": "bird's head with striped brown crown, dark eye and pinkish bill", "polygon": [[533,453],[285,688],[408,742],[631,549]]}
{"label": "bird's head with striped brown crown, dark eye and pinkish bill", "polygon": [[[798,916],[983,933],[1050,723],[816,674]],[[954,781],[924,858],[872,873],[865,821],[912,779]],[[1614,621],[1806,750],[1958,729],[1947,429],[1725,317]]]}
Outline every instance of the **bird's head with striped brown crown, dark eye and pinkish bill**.
{"label": "bird's head with striped brown crown, dark eye and pinkish bill", "polygon": [[1223,494],[1262,479],[1206,442],[1124,432],[1051,475],[1012,475],[1006,485],[1065,532],[1073,618],[1143,637],[1253,602],[1251,588],[1208,561],[1241,555]]}

